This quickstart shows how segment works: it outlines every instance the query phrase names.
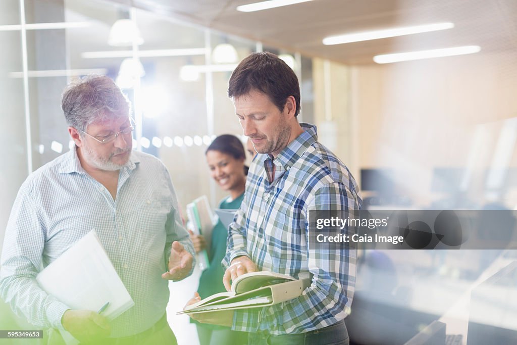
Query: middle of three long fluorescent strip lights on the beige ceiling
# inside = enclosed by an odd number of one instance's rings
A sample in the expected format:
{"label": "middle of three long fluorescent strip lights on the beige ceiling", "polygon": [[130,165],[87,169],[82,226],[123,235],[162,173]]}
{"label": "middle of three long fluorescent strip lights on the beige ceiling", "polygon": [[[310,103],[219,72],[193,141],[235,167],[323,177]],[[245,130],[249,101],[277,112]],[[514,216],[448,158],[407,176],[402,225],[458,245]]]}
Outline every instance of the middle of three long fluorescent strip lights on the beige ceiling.
{"label": "middle of three long fluorescent strip lights on the beige ceiling", "polygon": [[362,33],[345,34],[345,35],[338,35],[338,36],[329,36],[329,37],[326,37],[323,39],[323,44],[325,44],[326,46],[331,46],[332,44],[369,41],[372,39],[379,39],[379,38],[427,33],[427,32],[431,32],[431,31],[451,29],[453,27],[454,27],[453,23],[434,23],[434,24],[418,25],[418,26],[395,27],[392,29],[367,31],[367,32],[362,32]]}

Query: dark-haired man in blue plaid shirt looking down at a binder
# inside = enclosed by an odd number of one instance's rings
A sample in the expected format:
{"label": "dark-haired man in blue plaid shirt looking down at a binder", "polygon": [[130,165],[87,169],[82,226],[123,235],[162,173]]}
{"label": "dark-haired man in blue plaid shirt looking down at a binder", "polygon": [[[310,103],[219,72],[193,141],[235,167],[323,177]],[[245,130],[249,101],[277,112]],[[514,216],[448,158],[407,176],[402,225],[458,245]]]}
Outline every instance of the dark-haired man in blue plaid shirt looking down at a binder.
{"label": "dark-haired man in blue plaid shirt looking down at a binder", "polygon": [[250,332],[249,344],[348,344],[344,318],[352,304],[354,249],[309,242],[309,211],[358,211],[361,199],[344,164],[317,142],[316,127],[298,123],[300,89],[293,70],[262,52],[234,70],[228,90],[245,136],[258,155],[244,201],[229,228],[223,282],[254,271],[299,277],[311,285],[270,307],[196,316]]}

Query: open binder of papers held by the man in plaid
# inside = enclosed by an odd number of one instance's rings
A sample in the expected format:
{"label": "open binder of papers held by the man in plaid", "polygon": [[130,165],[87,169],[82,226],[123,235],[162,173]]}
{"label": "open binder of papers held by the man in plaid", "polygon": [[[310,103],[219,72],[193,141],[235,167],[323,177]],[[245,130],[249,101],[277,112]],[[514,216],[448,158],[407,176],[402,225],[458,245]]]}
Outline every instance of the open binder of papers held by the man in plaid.
{"label": "open binder of papers held by the man in plaid", "polygon": [[309,284],[309,278],[296,279],[265,271],[247,273],[235,279],[232,291],[206,297],[177,314],[271,306],[300,296]]}

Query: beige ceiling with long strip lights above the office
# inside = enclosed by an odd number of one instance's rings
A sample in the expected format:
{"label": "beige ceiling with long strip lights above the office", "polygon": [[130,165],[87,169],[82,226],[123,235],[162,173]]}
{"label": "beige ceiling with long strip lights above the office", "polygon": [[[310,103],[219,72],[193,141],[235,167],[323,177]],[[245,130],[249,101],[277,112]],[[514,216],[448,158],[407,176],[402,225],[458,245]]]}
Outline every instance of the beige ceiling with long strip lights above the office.
{"label": "beige ceiling with long strip lights above the office", "polygon": [[[315,0],[257,12],[238,12],[253,0],[112,0],[265,45],[371,64],[377,54],[478,45],[482,53],[517,53],[516,0]],[[453,22],[453,29],[324,46],[329,35]],[[517,56],[517,55],[516,55]]]}

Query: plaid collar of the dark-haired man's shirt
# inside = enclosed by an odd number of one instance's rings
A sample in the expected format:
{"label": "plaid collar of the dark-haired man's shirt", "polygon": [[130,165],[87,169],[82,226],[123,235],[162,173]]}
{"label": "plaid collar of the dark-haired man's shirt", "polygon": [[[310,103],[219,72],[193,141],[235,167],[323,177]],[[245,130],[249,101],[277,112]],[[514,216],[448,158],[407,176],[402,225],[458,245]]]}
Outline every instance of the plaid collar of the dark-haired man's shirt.
{"label": "plaid collar of the dark-haired man's shirt", "polygon": [[[291,167],[307,150],[307,148],[318,140],[316,126],[307,123],[300,123],[300,126],[303,129],[303,132],[296,137],[295,140],[287,144],[280,154],[273,159],[273,163],[276,166],[283,167],[284,169]],[[271,159],[269,154],[263,154],[261,156],[260,160],[262,162],[268,158]]]}

